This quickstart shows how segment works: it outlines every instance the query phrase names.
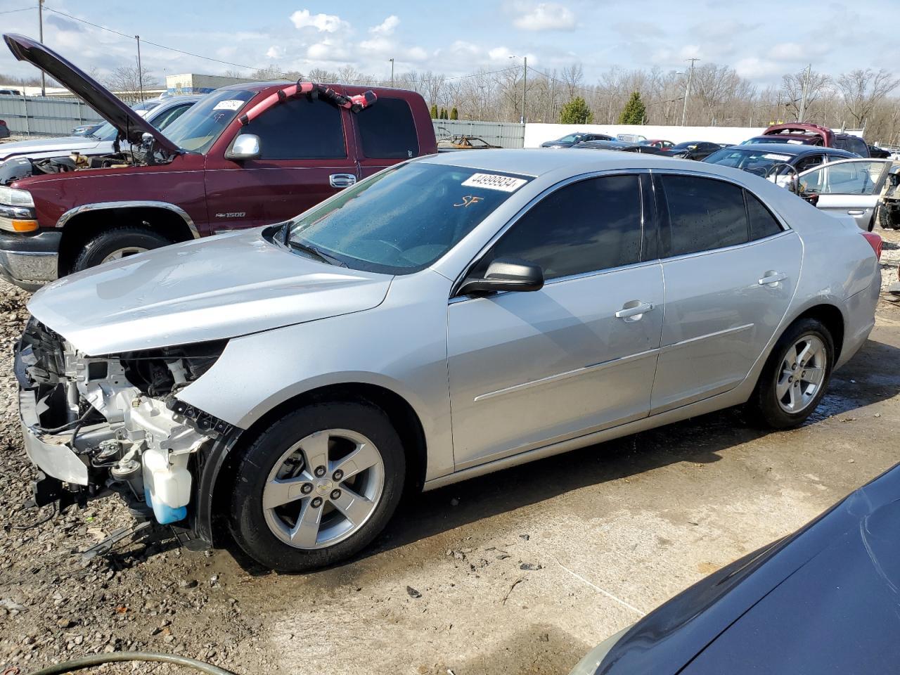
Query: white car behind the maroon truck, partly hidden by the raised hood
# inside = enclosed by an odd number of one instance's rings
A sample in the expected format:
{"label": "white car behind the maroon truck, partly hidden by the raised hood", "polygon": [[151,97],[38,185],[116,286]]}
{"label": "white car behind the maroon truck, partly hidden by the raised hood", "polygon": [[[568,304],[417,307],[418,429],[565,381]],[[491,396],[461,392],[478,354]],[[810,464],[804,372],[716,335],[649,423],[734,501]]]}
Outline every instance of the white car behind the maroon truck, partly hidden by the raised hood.
{"label": "white car behind the maroon truck, partly hidden by the raised hood", "polygon": [[[134,110],[140,117],[147,120],[157,130],[165,130],[169,124],[177,120],[194,103],[202,98],[201,95],[168,96],[162,99],[150,99],[135,105]],[[92,125],[94,126],[94,125]],[[73,134],[71,136],[58,136],[54,138],[35,138],[17,140],[12,143],[4,143],[0,148],[0,184],[4,184],[4,174],[11,170],[4,161],[11,158],[26,160],[59,158],[68,162],[69,157],[77,154],[81,157],[102,157],[116,152],[130,150],[128,141],[119,144],[116,149],[116,139],[120,130],[110,121],[96,125],[96,129],[90,133]],[[26,166],[20,164],[20,166]],[[30,170],[30,169],[29,169]]]}

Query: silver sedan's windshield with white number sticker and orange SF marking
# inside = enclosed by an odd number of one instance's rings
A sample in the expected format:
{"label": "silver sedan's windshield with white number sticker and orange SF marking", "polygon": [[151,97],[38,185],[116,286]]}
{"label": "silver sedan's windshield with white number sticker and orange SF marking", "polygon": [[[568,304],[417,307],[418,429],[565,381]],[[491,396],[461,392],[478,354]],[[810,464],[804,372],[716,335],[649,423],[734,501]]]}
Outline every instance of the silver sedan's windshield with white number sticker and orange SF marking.
{"label": "silver sedan's windshield with white number sticker and orange SF marking", "polygon": [[530,180],[462,166],[403,164],[293,220],[287,241],[298,255],[408,275],[455,247]]}

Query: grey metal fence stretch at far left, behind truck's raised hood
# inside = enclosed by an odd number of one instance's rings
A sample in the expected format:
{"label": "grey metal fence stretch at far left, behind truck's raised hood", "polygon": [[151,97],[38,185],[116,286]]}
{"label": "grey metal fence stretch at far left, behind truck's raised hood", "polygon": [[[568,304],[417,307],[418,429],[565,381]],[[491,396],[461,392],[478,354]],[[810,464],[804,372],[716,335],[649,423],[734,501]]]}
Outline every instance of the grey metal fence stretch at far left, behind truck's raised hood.
{"label": "grey metal fence stretch at far left, behind truck's raised hood", "polygon": [[103,121],[77,98],[0,95],[0,120],[14,136],[67,136],[72,127]]}

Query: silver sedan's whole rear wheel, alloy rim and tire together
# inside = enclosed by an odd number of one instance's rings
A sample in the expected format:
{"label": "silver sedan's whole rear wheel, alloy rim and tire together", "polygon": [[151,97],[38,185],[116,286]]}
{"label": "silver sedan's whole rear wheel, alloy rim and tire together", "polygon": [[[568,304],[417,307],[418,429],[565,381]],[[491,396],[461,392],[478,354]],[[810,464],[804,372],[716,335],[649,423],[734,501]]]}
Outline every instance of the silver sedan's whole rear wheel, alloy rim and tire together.
{"label": "silver sedan's whole rear wheel, alloy rim and tire together", "polygon": [[772,349],[748,401],[754,421],[776,429],[803,424],[825,395],[833,363],[834,341],[821,321],[792,323]]}

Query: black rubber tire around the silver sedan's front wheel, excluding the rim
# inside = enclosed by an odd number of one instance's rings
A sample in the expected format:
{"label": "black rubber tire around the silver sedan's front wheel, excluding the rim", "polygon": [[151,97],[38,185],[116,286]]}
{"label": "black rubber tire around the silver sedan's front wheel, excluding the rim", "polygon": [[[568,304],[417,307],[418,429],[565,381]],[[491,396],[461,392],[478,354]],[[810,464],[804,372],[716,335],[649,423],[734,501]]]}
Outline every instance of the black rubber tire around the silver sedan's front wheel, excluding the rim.
{"label": "black rubber tire around the silver sedan's front wheel, excluding the rim", "polygon": [[[371,516],[346,539],[323,548],[296,548],[275,536],[266,522],[263,491],[275,463],[291,446],[328,429],[347,429],[371,439],[383,462],[381,498]],[[305,406],[276,420],[239,456],[229,509],[231,536],[247,555],[276,572],[307,572],[340,563],[382,532],[401,500],[405,477],[401,439],[382,410],[349,401]]]}

